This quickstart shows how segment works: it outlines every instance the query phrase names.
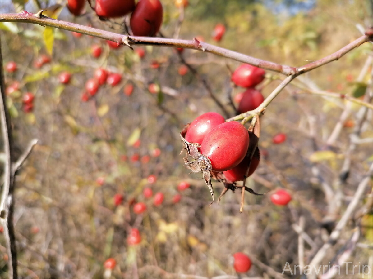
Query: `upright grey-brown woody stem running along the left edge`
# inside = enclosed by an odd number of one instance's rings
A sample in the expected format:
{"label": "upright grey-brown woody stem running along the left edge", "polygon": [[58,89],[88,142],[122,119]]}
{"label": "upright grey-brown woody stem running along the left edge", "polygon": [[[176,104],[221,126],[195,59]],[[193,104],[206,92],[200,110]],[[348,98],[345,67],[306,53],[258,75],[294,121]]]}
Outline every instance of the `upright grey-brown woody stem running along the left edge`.
{"label": "upright grey-brown woody stem running along the left edge", "polygon": [[10,123],[10,115],[6,105],[5,83],[4,83],[4,68],[3,57],[0,41],[0,115],[1,115],[1,132],[4,144],[4,184],[3,192],[1,193],[0,202],[0,219],[4,228],[4,237],[6,241],[8,260],[9,278],[17,278],[17,250],[14,235],[13,225],[13,192],[14,192],[14,170],[12,169],[13,162],[13,137],[12,126]]}

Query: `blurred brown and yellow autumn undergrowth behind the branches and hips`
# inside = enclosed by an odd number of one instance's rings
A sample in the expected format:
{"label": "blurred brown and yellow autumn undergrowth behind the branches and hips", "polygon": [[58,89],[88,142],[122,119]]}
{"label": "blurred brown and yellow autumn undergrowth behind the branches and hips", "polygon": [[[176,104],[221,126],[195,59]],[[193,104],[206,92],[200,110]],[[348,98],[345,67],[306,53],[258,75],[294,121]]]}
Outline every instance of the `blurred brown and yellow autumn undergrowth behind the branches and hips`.
{"label": "blurred brown and yellow autumn undergrowth behind the branches and hips", "polygon": [[[161,32],[172,37],[180,11],[173,0],[162,3],[165,14]],[[54,4],[65,6],[65,1],[5,0],[0,3],[0,12],[25,9],[36,13]],[[122,32],[120,20],[101,22],[88,4],[86,9],[86,15],[74,18],[63,7],[58,18]],[[363,0],[189,0],[179,37],[203,36],[206,42],[256,58],[300,66],[360,37],[359,26],[369,26],[371,16],[372,6]],[[227,29],[219,43],[211,39],[216,23]],[[315,142],[317,151],[325,148],[347,104],[343,100],[296,94],[296,88],[289,86],[262,118],[260,148],[269,155],[247,183],[259,193],[285,187],[293,195],[291,205],[276,207],[269,195],[247,195],[244,213],[239,214],[240,195],[228,192],[220,206],[214,203],[209,208],[210,194],[201,175],[188,175],[182,166],[179,131],[201,113],[221,111],[192,73],[176,74],[181,62],[174,49],[146,47],[145,58],[140,59],[126,47],[111,49],[98,38],[75,38],[70,32],[54,29],[51,62],[35,68],[34,61],[48,54],[45,28],[25,23],[0,23],[0,28],[4,62],[15,61],[19,68],[6,75],[7,86],[13,81],[20,83],[19,90],[8,96],[16,152],[20,154],[32,138],[39,140],[16,181],[15,221],[22,278],[102,278],[103,262],[108,257],[118,263],[113,278],[233,275],[230,257],[236,251],[244,251],[281,273],[285,262],[298,264],[298,234],[291,225],[299,216],[307,219],[305,230],[315,245],[327,237],[322,224],[328,204],[311,163],[316,162],[323,179],[332,183],[339,175],[353,128],[343,129],[331,156],[316,153],[313,162],[309,158]],[[91,56],[92,44],[103,48],[99,58]],[[354,80],[371,52],[371,44],[364,44],[304,78],[323,90],[352,94]],[[182,55],[233,116],[229,96],[242,89],[232,87],[229,69],[239,63],[189,49]],[[158,69],[150,67],[154,61],[160,63]],[[93,98],[82,102],[85,81],[98,67],[120,73],[122,81],[114,87],[101,86]],[[62,71],[72,73],[67,85],[57,79]],[[277,74],[267,74],[276,79]],[[363,84],[368,80],[366,75]],[[131,96],[123,94],[127,83],[135,86]],[[159,84],[161,92],[149,93],[150,83]],[[275,80],[263,86],[264,96],[278,83]],[[26,92],[35,94],[31,113],[22,111],[21,99]],[[352,122],[358,109],[352,106]],[[310,115],[315,121],[315,138],[308,131]],[[364,138],[373,137],[372,113],[369,115]],[[286,133],[288,140],[273,145],[271,139],[279,132]],[[138,147],[132,145],[136,140],[141,142]],[[161,150],[159,157],[153,155],[156,148]],[[372,161],[372,150],[369,143],[356,150],[350,177],[339,189],[345,195],[342,209]],[[136,156],[140,160],[134,160]],[[141,161],[144,156],[150,160]],[[147,181],[150,174],[157,177],[154,184]],[[99,177],[104,178],[103,184],[96,181]],[[182,192],[179,203],[173,204],[176,186],[182,180],[191,187]],[[146,186],[154,193],[164,193],[162,206],[153,206],[144,198]],[[213,186],[216,193],[223,188],[218,182]],[[113,203],[116,193],[124,196],[119,206]],[[147,203],[145,214],[134,214],[134,200]],[[335,212],[332,221],[340,213]],[[361,242],[371,244],[371,215],[364,220]],[[142,237],[135,247],[126,244],[131,227],[139,228]],[[0,244],[4,254],[2,236]],[[312,248],[306,247],[307,259],[314,253]],[[328,260],[335,253],[330,253]],[[366,263],[369,255],[369,249],[360,248],[354,258]],[[0,259],[0,267],[0,277],[7,278],[4,259]],[[274,277],[258,262],[247,276]]]}

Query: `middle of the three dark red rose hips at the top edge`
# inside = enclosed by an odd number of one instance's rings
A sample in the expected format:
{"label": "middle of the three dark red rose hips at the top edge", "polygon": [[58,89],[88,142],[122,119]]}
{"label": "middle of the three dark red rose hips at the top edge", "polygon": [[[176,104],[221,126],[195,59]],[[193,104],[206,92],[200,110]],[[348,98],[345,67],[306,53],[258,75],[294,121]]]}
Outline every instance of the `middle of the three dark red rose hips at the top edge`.
{"label": "middle of the three dark red rose hips at the top edge", "polygon": [[120,17],[135,9],[135,0],[96,0],[95,12],[102,17]]}

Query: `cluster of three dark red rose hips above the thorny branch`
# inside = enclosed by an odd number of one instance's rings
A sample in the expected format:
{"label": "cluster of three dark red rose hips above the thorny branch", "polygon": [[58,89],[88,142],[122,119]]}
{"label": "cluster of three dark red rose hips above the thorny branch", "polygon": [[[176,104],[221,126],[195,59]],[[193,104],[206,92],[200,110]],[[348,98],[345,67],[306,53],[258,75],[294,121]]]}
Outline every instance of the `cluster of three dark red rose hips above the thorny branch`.
{"label": "cluster of three dark red rose hips above the thorny branch", "polygon": [[[85,0],[68,0],[69,11],[84,13]],[[129,25],[134,36],[154,36],[163,21],[163,7],[159,0],[96,0],[94,10],[101,18],[123,17],[131,14]]]}

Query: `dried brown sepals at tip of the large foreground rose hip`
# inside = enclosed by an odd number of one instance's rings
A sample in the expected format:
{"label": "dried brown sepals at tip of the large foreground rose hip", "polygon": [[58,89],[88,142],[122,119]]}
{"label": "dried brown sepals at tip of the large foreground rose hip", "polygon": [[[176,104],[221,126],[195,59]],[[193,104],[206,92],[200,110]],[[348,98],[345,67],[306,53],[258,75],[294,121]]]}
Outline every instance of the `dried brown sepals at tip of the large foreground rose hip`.
{"label": "dried brown sepals at tip of the large foreground rose hip", "polygon": [[193,162],[188,162],[188,155],[186,155],[186,157],[184,158],[185,167],[187,167],[194,173],[199,173],[201,171],[203,172],[203,178],[206,182],[207,187],[209,187],[212,201],[214,201],[215,195],[214,195],[214,189],[212,187],[211,177],[210,177],[211,170],[212,170],[210,159],[207,156],[200,154],[198,152],[198,148],[195,145],[191,144],[190,142],[186,141],[181,133],[180,133],[180,137],[185,144],[186,152],[189,154],[190,157],[195,159],[195,161]]}

